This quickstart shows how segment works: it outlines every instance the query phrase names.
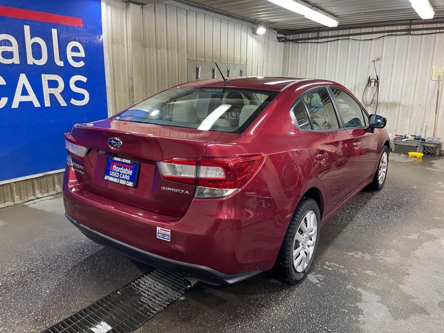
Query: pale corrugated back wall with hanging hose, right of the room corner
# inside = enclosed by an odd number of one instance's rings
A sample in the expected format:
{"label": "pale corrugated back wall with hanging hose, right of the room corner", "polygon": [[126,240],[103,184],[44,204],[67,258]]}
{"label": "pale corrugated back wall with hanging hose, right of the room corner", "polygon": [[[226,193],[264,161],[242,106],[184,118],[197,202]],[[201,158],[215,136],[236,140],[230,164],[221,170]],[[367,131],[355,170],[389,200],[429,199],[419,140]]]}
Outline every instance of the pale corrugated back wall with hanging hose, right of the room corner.
{"label": "pale corrugated back wall with hanging hose, right of the room corner", "polygon": [[[375,30],[367,28],[341,33]],[[424,31],[430,32],[433,31]],[[328,36],[329,33],[322,34]],[[309,36],[316,35],[291,38]],[[363,40],[378,36],[381,34],[354,38]],[[337,81],[353,91],[360,100],[369,77],[370,63],[380,58],[376,61],[381,80],[377,113],[388,118],[389,132],[432,136],[437,93],[437,81],[431,80],[432,67],[444,66],[444,34],[391,36],[372,41],[341,40],[323,44],[292,43],[285,44],[285,52],[288,52],[285,75]],[[440,99],[439,108],[436,136],[443,138],[444,98]],[[368,110],[373,112],[374,105]]]}

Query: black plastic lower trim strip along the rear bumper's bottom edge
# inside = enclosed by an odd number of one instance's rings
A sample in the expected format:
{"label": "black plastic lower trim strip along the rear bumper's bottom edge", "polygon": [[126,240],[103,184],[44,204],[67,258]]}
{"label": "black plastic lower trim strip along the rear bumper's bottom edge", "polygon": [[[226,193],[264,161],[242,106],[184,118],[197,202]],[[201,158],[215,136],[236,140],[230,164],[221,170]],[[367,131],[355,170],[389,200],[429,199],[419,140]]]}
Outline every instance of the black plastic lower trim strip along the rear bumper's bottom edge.
{"label": "black plastic lower trim strip along the rear bumper's bottom edge", "polygon": [[127,257],[133,258],[139,262],[143,262],[147,265],[154,266],[156,268],[160,268],[163,270],[170,270],[170,271],[180,271],[188,273],[194,277],[198,277],[199,279],[204,281],[210,281],[213,283],[220,283],[220,284],[237,283],[239,281],[245,280],[249,277],[253,277],[254,275],[262,273],[261,270],[255,270],[248,273],[228,275],[218,272],[217,270],[213,270],[210,267],[190,264],[187,262],[179,262],[177,260],[161,257],[157,254],[152,254],[150,252],[120,242],[117,239],[108,237],[107,235],[100,234],[99,232],[76,222],[75,220],[70,218],[67,214],[65,215],[72,224],[74,224],[87,238],[91,239],[92,241],[102,246],[105,246],[111,250],[119,252],[120,254],[123,254]]}

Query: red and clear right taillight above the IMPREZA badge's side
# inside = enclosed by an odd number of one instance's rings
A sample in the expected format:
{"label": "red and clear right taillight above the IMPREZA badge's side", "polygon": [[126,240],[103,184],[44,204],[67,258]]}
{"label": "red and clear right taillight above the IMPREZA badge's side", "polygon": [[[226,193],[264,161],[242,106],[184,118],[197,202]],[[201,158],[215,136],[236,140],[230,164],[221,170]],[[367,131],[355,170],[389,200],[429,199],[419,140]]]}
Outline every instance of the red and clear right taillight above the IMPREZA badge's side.
{"label": "red and clear right taillight above the IMPREZA badge's side", "polygon": [[240,189],[256,173],[263,155],[168,159],[158,162],[163,178],[197,185],[196,198],[226,197]]}

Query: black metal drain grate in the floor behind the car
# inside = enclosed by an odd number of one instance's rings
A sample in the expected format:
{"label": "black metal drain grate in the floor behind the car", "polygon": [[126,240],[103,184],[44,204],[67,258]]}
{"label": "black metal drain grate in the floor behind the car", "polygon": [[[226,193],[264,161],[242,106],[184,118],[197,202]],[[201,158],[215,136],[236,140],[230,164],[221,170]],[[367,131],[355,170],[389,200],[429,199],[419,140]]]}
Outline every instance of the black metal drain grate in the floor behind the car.
{"label": "black metal drain grate in the floor behind the car", "polygon": [[132,332],[185,293],[187,276],[154,270],[42,333]]}

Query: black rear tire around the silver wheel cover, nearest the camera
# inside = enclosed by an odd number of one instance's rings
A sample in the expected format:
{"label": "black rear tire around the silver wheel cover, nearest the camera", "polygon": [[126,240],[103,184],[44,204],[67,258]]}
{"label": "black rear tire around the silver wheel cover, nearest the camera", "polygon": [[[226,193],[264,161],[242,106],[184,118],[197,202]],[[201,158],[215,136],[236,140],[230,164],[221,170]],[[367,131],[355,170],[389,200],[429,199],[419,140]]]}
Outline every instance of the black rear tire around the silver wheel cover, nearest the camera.
{"label": "black rear tire around the silver wheel cover, nearest the camera", "polygon": [[[296,232],[299,229],[302,219],[305,217],[309,211],[313,211],[317,219],[317,229],[316,229],[316,241],[314,242],[313,254],[310,261],[302,272],[297,272],[293,265],[293,249],[295,244]],[[302,198],[294,211],[293,217],[289,223],[287,232],[284,237],[284,241],[281,245],[281,250],[277,255],[276,262],[273,267],[274,277],[289,285],[297,284],[302,281],[304,277],[309,273],[313,259],[316,254],[317,245],[319,243],[319,226],[321,225],[321,217],[319,212],[319,207],[316,201],[312,198]],[[297,242],[299,244],[299,242]]]}

